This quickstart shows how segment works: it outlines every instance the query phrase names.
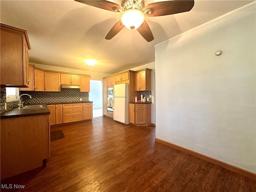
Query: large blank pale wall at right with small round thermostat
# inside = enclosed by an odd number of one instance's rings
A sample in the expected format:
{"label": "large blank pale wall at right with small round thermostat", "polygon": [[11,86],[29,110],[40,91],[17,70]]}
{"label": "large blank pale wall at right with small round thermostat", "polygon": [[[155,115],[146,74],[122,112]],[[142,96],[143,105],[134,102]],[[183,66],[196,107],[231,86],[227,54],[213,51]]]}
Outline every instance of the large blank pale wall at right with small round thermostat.
{"label": "large blank pale wall at right with small round thermostat", "polygon": [[159,44],[155,61],[156,138],[253,173],[255,10],[254,3]]}

